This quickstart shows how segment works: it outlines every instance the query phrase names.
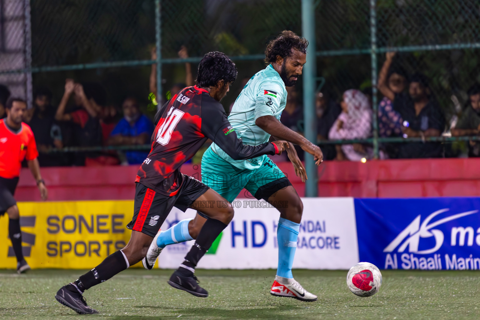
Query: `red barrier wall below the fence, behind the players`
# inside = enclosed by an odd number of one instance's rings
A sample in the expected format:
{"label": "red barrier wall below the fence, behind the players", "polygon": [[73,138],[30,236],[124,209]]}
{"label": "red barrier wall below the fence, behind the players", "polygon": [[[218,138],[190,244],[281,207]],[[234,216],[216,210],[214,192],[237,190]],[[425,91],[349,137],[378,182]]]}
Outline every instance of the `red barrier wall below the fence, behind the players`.
{"label": "red barrier wall below the fence, behind the players", "polygon": [[[278,167],[288,175],[300,196],[305,185],[289,162]],[[42,168],[50,201],[133,199],[138,166]],[[200,166],[186,164],[181,171],[201,178]],[[480,159],[418,159],[360,162],[325,161],[319,167],[321,197],[442,197],[480,196]],[[240,193],[240,198],[244,198]],[[39,201],[40,194],[28,169],[23,169],[17,201]]]}

